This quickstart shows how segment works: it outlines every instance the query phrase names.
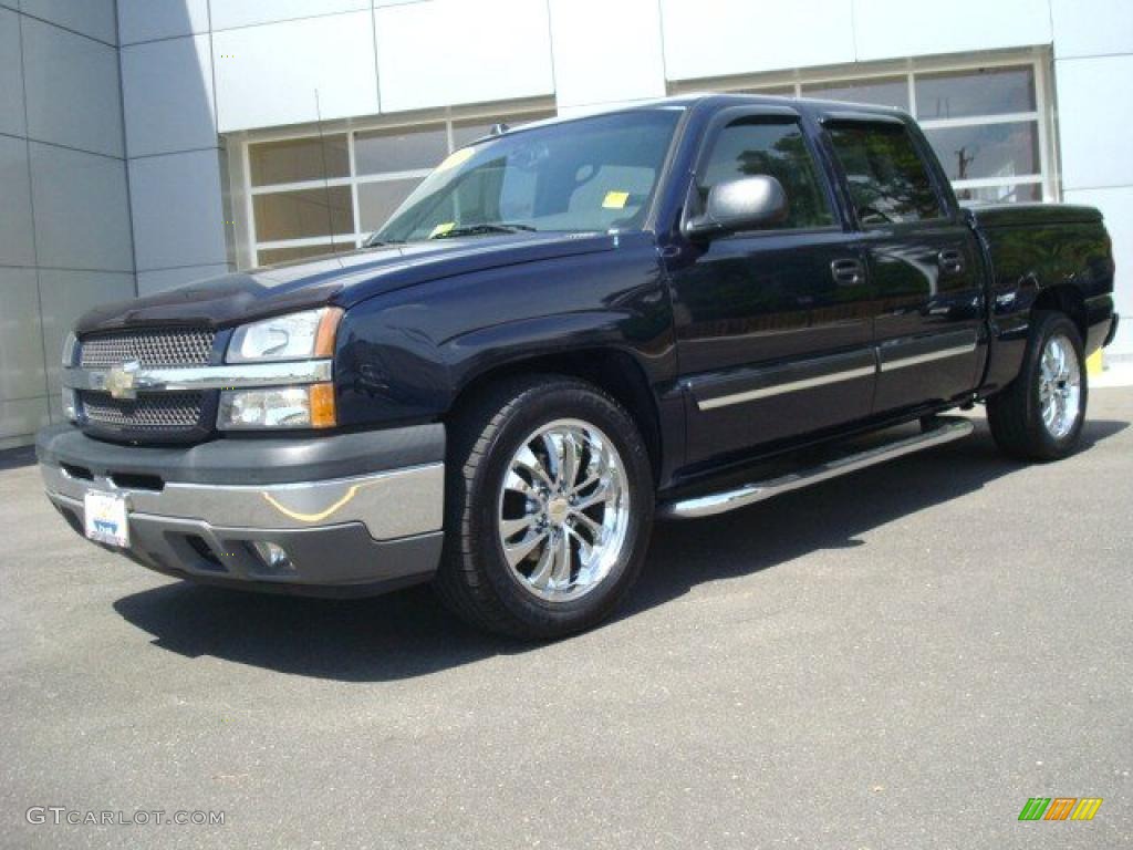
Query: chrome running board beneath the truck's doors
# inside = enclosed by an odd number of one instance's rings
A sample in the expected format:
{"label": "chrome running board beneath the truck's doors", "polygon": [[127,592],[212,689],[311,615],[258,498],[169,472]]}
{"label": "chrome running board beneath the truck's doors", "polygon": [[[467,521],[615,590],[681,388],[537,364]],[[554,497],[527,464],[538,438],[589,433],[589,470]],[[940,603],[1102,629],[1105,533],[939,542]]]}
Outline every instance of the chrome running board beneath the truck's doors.
{"label": "chrome running board beneath the truck's doors", "polygon": [[809,487],[811,484],[829,481],[840,475],[847,475],[859,469],[884,464],[886,460],[893,460],[904,454],[912,454],[914,451],[920,451],[921,449],[931,449],[934,445],[951,443],[953,440],[968,436],[973,430],[974,426],[969,419],[937,417],[927,431],[914,436],[906,436],[884,445],[876,445],[857,454],[849,454],[811,469],[791,473],[780,478],[744,484],[742,487],[727,490],[722,493],[712,493],[705,496],[661,504],[657,508],[657,515],[666,519],[699,519],[700,517],[725,513],[736,508],[746,508],[749,504],[777,496],[781,493],[790,493],[792,490]]}

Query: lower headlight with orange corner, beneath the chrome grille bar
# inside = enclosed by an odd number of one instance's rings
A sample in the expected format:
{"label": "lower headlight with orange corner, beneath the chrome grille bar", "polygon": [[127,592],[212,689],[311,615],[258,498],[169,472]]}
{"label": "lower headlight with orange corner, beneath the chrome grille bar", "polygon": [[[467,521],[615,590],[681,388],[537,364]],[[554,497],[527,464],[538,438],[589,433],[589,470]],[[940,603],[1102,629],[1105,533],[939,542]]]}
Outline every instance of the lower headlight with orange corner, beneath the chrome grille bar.
{"label": "lower headlight with orange corner, beneath the chrome grille bar", "polygon": [[333,427],[334,384],[225,390],[216,427],[222,431]]}

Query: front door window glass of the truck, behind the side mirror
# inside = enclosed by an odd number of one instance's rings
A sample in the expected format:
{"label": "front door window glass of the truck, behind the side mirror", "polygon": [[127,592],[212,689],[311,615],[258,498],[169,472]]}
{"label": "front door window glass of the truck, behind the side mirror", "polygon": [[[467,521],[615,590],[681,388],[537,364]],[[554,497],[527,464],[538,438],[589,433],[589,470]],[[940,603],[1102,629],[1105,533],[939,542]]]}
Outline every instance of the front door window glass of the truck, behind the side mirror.
{"label": "front door window glass of the truck, behind the side mirror", "polygon": [[721,130],[698,178],[700,199],[718,182],[768,175],[783,184],[790,212],[768,229],[826,227],[834,223],[818,171],[798,124],[742,119]]}

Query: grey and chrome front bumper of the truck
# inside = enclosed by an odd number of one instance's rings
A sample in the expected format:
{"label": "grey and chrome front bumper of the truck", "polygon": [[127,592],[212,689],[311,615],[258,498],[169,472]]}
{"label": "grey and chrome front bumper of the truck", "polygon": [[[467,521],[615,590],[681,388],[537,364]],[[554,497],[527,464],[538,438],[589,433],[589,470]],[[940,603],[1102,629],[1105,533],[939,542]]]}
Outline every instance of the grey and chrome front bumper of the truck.
{"label": "grey and chrome front bumper of the truck", "polygon": [[[129,447],[71,426],[36,440],[48,498],[84,533],[87,492],[127,500],[122,554],[167,575],[305,595],[428,580],[440,561],[444,428]],[[255,543],[274,543],[272,566]],[[99,544],[101,545],[101,544]]]}

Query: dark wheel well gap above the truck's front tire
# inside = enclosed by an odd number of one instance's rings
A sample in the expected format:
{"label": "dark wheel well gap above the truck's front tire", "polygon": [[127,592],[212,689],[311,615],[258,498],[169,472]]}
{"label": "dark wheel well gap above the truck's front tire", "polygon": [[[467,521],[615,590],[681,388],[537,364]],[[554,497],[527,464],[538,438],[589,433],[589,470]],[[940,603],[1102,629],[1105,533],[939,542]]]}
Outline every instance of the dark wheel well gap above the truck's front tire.
{"label": "dark wheel well gap above the truck's front tire", "polygon": [[492,369],[469,382],[445,418],[451,418],[488,384],[516,375],[557,374],[577,377],[605,390],[624,407],[641,433],[654,482],[661,479],[661,420],[649,382],[637,362],[624,351],[604,349],[533,357]]}

